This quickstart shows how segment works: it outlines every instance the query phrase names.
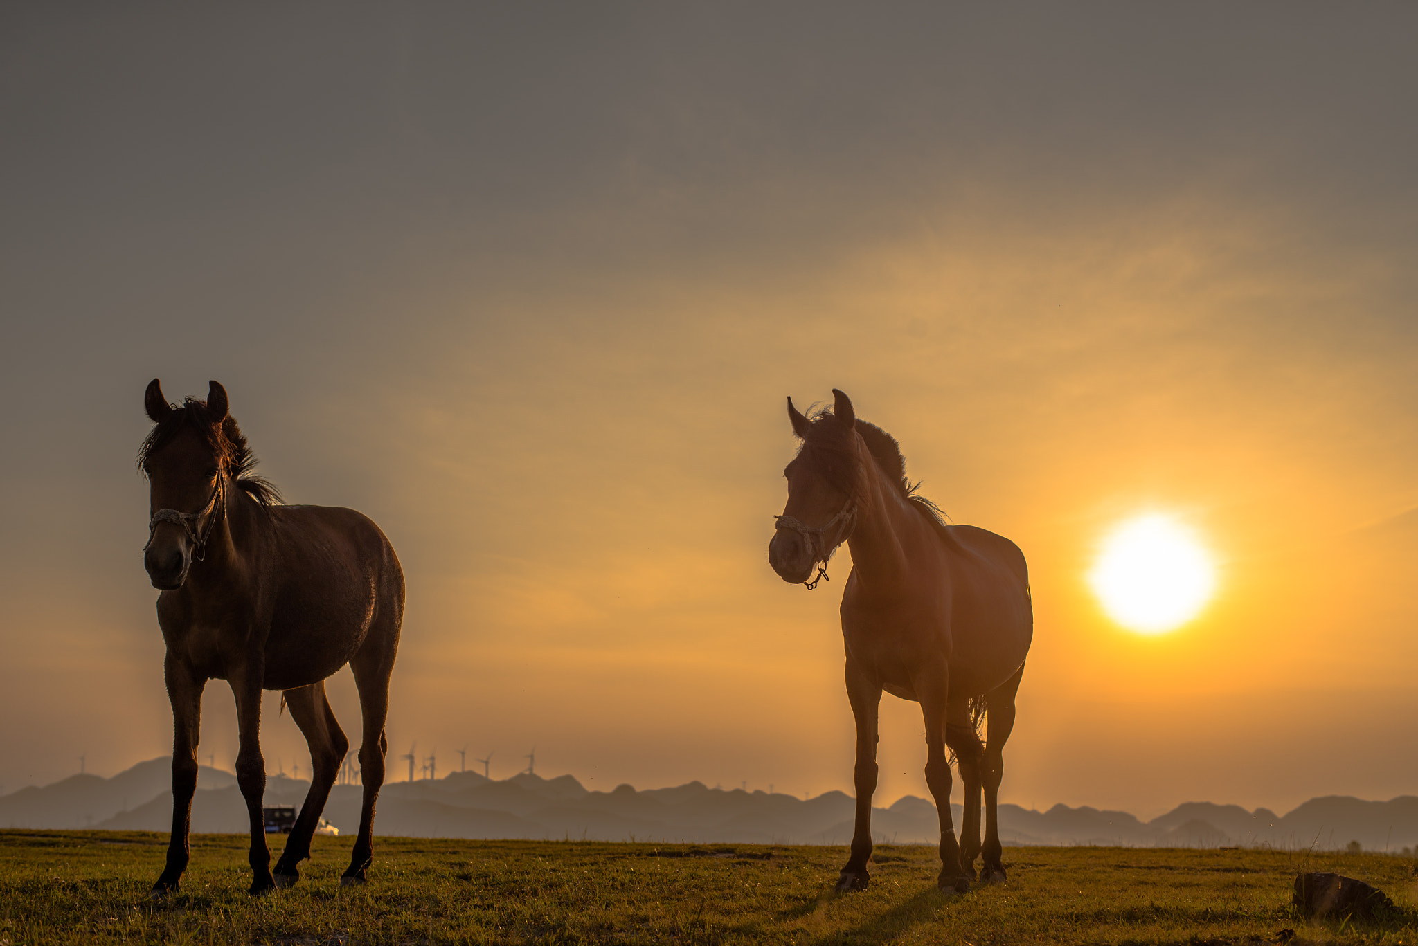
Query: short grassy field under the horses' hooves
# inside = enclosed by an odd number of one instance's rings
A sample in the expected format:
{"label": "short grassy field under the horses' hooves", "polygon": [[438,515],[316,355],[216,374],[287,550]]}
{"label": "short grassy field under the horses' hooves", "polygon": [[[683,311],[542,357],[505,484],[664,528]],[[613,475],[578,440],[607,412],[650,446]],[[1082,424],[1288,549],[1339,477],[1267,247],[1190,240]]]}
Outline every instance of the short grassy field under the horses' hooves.
{"label": "short grassy field under the horses' hooves", "polygon": [[[146,899],[164,838],[0,831],[0,946],[20,943],[1254,943],[1418,940],[1415,861],[1383,855],[1007,848],[1007,886],[946,899],[932,848],[876,848],[872,886],[834,895],[844,848],[316,838],[301,884],[245,894],[244,838],[197,835],[179,895]],[[1307,922],[1305,869],[1366,879],[1384,923]],[[1293,932],[1288,932],[1293,930]]]}

